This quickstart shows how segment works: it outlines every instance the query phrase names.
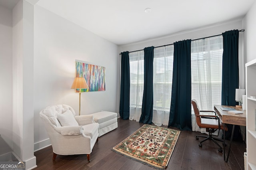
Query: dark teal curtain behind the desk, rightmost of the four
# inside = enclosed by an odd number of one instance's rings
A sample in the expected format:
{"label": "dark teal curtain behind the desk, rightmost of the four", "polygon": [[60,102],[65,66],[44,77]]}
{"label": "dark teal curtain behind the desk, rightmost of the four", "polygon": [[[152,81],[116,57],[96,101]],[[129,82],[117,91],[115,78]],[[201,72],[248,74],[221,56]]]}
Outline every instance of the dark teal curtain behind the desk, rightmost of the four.
{"label": "dark teal curtain behind the desk, rightmost of the four", "polygon": [[238,37],[239,31],[232,30],[222,33],[222,95],[221,105],[235,106],[236,89],[238,89]]}

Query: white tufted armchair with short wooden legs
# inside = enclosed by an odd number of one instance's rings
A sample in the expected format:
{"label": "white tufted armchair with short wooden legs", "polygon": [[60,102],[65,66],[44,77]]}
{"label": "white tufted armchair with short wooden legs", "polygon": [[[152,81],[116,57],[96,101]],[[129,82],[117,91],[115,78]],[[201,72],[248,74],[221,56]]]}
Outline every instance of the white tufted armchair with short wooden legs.
{"label": "white tufted armchair with short wooden legs", "polygon": [[94,122],[93,115],[75,115],[68,105],[49,106],[40,112],[52,143],[52,160],[57,154],[87,154],[90,162],[90,153],[98,142],[99,124]]}

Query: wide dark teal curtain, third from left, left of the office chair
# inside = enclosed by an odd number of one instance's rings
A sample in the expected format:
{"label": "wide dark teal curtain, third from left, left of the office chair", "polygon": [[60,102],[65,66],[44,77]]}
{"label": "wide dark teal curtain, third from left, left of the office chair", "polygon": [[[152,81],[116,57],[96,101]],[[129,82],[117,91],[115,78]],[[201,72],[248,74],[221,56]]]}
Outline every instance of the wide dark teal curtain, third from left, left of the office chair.
{"label": "wide dark teal curtain, third from left, left of the office chair", "polygon": [[172,98],[168,127],[192,130],[191,40],[174,43]]}

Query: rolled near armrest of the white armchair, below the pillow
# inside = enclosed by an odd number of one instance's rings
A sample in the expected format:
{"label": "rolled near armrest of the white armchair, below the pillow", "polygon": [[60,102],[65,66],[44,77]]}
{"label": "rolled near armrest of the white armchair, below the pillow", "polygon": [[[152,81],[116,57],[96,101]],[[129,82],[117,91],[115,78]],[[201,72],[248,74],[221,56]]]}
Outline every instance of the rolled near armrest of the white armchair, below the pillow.
{"label": "rolled near armrest of the white armchair, below the pillow", "polygon": [[55,130],[62,135],[79,135],[82,134],[84,128],[82,126],[55,127]]}

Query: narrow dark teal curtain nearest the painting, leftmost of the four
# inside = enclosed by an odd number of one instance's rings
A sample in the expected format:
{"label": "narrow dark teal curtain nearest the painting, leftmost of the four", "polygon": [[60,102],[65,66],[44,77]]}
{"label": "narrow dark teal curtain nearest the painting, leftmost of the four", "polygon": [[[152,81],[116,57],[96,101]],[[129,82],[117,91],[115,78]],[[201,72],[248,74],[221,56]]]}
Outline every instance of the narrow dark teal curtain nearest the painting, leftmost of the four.
{"label": "narrow dark teal curtain nearest the painting, leftmost of the four", "polygon": [[120,89],[120,117],[129,119],[130,115],[130,63],[129,52],[121,53],[121,89]]}

